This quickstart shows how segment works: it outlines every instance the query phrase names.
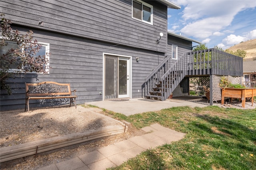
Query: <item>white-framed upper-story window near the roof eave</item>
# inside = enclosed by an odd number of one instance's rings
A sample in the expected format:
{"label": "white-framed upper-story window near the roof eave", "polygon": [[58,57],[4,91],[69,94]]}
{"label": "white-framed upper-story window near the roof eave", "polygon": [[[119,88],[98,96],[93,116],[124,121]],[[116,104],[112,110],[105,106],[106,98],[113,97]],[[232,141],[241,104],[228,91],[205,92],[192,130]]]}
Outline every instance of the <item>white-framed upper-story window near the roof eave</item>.
{"label": "white-framed upper-story window near the roof eave", "polygon": [[153,25],[153,6],[140,0],[132,0],[132,18]]}

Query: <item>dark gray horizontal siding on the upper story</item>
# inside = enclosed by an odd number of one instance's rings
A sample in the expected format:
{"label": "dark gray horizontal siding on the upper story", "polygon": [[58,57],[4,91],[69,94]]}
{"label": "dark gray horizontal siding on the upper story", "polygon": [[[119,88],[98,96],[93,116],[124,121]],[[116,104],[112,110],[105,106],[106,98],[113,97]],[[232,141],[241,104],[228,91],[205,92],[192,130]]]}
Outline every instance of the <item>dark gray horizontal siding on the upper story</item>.
{"label": "dark gray horizontal siding on the upper story", "polygon": [[[132,19],[132,0],[1,0],[1,12],[20,25],[130,47],[166,52],[167,7],[153,5],[153,25]],[[39,22],[42,22],[40,25]],[[156,45],[159,33],[164,36]]]}

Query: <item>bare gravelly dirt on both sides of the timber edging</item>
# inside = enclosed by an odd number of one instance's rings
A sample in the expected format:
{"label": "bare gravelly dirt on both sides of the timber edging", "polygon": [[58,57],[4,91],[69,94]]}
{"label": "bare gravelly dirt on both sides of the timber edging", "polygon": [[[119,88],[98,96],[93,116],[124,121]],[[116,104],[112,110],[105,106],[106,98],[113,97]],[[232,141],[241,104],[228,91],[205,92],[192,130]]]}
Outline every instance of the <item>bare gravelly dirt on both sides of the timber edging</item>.
{"label": "bare gravelly dirt on both sides of the timber edging", "polygon": [[[30,113],[24,111],[1,112],[0,147],[116,125],[115,121],[106,119],[95,112],[102,113],[102,110],[78,106],[77,109],[75,107],[34,109]],[[32,155],[2,162],[0,168],[1,170],[34,170],[142,134],[144,131],[128,125],[126,133],[40,153],[37,156]]]}

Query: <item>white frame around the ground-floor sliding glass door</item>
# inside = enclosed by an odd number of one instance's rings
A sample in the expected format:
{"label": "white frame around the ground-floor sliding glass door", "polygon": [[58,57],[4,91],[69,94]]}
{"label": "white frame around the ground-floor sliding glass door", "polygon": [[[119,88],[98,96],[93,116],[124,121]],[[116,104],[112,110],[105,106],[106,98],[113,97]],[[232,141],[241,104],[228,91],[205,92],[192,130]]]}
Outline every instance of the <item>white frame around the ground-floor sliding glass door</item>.
{"label": "white frame around the ground-floor sliding glass door", "polygon": [[[129,65],[129,67],[130,67],[130,69],[129,69],[129,72],[128,72],[128,75],[129,75],[129,84],[127,84],[127,86],[129,86],[129,92],[128,92],[128,98],[132,98],[132,56],[128,56],[128,55],[119,55],[119,54],[114,54],[114,53],[103,53],[103,62],[102,62],[102,64],[103,64],[103,75],[102,75],[102,84],[103,84],[103,86],[102,86],[102,100],[105,100],[105,55],[112,55],[112,56],[116,56],[116,57],[126,57],[126,58],[128,58],[128,65]],[[122,96],[122,95],[120,95],[120,96]],[[118,98],[119,98],[119,96],[118,96]]]}

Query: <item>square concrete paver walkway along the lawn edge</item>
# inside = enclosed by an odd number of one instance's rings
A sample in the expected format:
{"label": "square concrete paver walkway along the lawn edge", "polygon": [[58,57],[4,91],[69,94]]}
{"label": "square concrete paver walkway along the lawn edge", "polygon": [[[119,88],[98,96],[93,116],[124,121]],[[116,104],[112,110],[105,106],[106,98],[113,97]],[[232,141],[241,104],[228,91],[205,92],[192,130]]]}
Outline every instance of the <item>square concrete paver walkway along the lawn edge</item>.
{"label": "square concrete paver walkway along the lawn edge", "polygon": [[106,170],[106,168],[121,165],[140,152],[178,141],[185,136],[184,133],[162,127],[157,123],[144,127],[142,130],[148,133],[38,170]]}

